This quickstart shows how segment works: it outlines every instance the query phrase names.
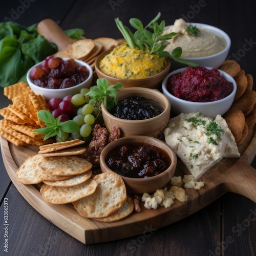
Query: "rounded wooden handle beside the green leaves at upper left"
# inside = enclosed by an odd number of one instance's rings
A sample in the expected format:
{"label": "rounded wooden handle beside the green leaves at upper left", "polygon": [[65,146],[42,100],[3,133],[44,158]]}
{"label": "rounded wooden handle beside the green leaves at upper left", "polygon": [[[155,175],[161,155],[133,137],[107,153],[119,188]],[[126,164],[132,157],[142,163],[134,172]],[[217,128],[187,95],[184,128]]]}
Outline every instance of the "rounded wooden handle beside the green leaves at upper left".
{"label": "rounded wooden handle beside the green leaves at upper left", "polygon": [[68,37],[59,25],[50,18],[44,19],[38,23],[37,32],[44,36],[49,42],[54,42],[58,47],[58,51],[66,49],[69,44],[75,41]]}

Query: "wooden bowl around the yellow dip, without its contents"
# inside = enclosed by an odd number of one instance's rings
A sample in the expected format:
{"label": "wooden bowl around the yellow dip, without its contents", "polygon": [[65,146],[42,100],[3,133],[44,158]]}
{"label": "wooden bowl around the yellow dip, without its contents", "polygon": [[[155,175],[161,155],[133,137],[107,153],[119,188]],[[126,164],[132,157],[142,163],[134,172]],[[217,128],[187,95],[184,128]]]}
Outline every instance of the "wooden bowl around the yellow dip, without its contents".
{"label": "wooden bowl around the yellow dip, without its contents", "polygon": [[106,78],[109,81],[110,85],[116,84],[118,82],[123,83],[123,88],[130,88],[130,87],[144,87],[144,88],[157,88],[158,86],[161,85],[161,82],[165,78],[165,76],[169,73],[170,70],[170,59],[167,59],[167,66],[166,68],[154,75],[150,76],[147,78],[142,78],[142,79],[121,79],[121,78],[116,78],[112,77],[109,75],[104,74],[103,72],[100,71],[99,69],[99,61],[106,55],[109,54],[112,50],[105,51],[101,53],[95,60],[95,71],[97,73],[98,78]]}

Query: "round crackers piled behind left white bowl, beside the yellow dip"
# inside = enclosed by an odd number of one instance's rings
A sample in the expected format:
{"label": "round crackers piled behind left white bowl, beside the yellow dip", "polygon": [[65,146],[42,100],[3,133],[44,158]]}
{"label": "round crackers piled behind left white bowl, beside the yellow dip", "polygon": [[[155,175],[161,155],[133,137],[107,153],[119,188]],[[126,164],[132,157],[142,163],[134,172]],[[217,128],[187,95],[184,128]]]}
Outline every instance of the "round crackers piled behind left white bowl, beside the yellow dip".
{"label": "round crackers piled behind left white bowl, beside the yellow dip", "polygon": [[56,52],[54,56],[80,59],[87,62],[95,73],[94,62],[97,56],[104,51],[115,48],[117,45],[118,41],[110,37],[80,39],[74,41],[66,49]]}

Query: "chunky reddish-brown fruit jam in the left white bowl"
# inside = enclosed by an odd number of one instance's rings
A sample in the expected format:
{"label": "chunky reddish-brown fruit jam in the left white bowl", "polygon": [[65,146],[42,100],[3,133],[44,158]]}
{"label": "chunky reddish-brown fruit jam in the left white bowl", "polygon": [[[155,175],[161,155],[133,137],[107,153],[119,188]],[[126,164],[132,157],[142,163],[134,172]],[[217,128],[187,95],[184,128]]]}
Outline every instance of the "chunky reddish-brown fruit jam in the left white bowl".
{"label": "chunky reddish-brown fruit jam in the left white bowl", "polygon": [[33,68],[30,78],[36,86],[49,89],[64,89],[76,86],[85,81],[89,71],[85,66],[79,66],[74,59],[63,60],[48,56],[41,66]]}

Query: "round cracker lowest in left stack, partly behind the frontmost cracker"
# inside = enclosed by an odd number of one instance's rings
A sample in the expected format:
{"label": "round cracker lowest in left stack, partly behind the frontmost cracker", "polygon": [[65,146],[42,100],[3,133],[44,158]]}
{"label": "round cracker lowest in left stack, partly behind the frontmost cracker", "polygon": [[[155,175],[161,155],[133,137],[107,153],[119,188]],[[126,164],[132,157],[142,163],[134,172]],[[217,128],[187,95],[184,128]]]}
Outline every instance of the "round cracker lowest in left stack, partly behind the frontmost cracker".
{"label": "round cracker lowest in left stack, partly behind the frontmost cracker", "polygon": [[98,183],[92,179],[72,187],[54,187],[43,184],[40,189],[42,197],[52,204],[67,204],[88,197],[94,193]]}

